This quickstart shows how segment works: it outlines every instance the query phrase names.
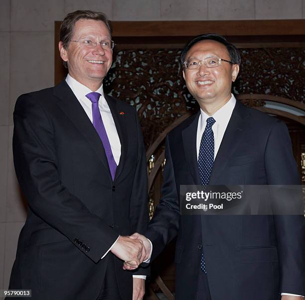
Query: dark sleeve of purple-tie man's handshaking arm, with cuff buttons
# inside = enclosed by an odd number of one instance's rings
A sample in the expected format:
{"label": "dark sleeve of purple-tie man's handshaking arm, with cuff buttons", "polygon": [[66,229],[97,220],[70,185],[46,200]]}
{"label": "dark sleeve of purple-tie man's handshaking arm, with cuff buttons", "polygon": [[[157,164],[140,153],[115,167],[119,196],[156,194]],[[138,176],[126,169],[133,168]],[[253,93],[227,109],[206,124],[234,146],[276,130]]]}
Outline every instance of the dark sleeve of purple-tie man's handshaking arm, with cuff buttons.
{"label": "dark sleeve of purple-tie man's handshaking arm, with cuff buttons", "polygon": [[78,248],[98,262],[118,234],[62,185],[52,122],[32,98],[20,96],[14,110],[13,158],[21,189],[38,217],[73,244],[76,239],[86,243]]}

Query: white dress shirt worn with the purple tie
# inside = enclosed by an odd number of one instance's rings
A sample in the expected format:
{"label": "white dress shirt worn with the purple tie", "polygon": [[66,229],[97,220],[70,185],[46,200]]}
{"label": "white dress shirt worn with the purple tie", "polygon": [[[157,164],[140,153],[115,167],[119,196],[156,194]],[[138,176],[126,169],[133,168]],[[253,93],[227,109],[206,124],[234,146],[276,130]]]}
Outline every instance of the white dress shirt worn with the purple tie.
{"label": "white dress shirt worn with the purple tie", "polygon": [[[71,88],[72,92],[74,93],[75,97],[83,107],[85,113],[87,114],[88,118],[90,119],[91,123],[93,123],[93,117],[92,117],[92,102],[86,97],[87,94],[91,92],[97,92],[100,93],[100,99],[99,99],[99,109],[102,116],[102,120],[105,126],[105,130],[108,136],[108,140],[110,143],[110,147],[112,150],[113,157],[119,165],[120,157],[121,157],[121,142],[119,139],[119,135],[116,129],[116,125],[114,123],[109,105],[104,97],[104,91],[103,91],[103,84],[97,89],[96,91],[91,91],[89,88],[75,80],[73,77],[71,77],[69,74],[66,77],[66,82],[68,86]],[[108,249],[108,251],[101,257],[103,259],[107,253],[111,250],[111,248],[114,246],[114,244],[117,242],[120,236],[116,239],[116,241],[112,244],[112,246]],[[152,254],[152,252],[151,252]],[[146,276],[144,275],[133,275],[135,278],[142,278],[146,279]]]}

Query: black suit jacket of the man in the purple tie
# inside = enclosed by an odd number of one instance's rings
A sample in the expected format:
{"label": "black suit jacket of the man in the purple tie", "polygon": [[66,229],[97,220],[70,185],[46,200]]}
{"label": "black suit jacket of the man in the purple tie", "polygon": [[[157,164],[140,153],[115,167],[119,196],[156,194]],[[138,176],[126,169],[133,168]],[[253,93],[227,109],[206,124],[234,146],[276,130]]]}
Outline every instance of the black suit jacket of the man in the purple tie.
{"label": "black suit jacket of the man in the purple tie", "polygon": [[[137,112],[105,98],[122,145],[114,181],[102,142],[65,81],[16,102],[13,157],[28,215],[10,289],[32,289],[33,299],[96,299],[113,254],[101,257],[119,234],[147,227],[147,164]],[[133,273],[116,257],[115,266],[122,299],[132,299]]]}

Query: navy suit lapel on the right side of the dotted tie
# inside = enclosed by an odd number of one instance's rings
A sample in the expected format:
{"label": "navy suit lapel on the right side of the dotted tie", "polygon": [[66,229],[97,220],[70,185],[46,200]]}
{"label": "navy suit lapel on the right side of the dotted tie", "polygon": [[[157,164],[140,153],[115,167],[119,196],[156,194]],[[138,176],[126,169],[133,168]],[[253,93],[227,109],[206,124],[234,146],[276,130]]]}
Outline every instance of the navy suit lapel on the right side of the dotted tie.
{"label": "navy suit lapel on the right side of the dotted tie", "polygon": [[231,155],[238,148],[243,137],[243,130],[246,126],[245,119],[247,117],[248,113],[244,110],[244,105],[236,101],[235,108],[214,160],[209,184],[216,184],[219,175],[230,161]]}

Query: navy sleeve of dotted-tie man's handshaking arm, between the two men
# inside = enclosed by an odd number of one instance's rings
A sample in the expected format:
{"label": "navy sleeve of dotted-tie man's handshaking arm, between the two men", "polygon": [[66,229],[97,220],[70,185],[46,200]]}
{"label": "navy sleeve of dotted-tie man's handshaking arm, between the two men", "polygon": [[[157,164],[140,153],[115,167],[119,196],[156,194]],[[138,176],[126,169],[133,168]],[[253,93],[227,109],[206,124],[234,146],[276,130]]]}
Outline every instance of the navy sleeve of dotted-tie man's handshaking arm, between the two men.
{"label": "navy sleeve of dotted-tie man's handshaking arm, between the two men", "polygon": [[152,241],[152,260],[176,237],[180,220],[179,197],[168,136],[165,140],[165,159],[162,197],[145,234]]}

